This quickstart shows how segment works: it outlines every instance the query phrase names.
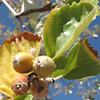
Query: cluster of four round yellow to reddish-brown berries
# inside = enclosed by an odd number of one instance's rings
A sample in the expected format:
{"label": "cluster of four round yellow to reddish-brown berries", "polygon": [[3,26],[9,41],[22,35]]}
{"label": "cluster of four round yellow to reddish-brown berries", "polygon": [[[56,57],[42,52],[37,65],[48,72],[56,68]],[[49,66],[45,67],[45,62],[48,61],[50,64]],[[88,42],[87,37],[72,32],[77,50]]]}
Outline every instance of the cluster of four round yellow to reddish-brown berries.
{"label": "cluster of four round yellow to reddish-brown berries", "polygon": [[[29,90],[36,98],[42,98],[49,92],[47,78],[55,69],[52,58],[48,56],[38,56],[34,58],[31,54],[20,52],[12,59],[12,65],[15,71],[20,75],[12,80],[11,89],[16,95],[24,95]],[[33,73],[25,76],[24,73]]]}

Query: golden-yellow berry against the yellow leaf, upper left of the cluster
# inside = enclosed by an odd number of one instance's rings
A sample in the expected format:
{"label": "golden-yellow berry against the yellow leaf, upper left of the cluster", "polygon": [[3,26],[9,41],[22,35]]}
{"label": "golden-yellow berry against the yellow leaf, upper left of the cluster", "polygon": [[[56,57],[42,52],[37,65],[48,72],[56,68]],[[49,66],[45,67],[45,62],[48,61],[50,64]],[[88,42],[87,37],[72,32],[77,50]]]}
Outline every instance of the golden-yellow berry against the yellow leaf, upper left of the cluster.
{"label": "golden-yellow berry against the yellow leaf, upper left of the cluster", "polygon": [[32,70],[35,58],[26,52],[20,52],[12,59],[13,68],[19,73],[28,73]]}

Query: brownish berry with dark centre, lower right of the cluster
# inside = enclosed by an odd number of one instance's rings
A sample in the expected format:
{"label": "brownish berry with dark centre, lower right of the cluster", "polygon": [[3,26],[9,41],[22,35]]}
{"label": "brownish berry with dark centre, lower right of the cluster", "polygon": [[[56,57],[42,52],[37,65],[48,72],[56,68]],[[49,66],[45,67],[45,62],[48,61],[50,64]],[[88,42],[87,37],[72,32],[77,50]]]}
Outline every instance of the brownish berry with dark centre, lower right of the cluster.
{"label": "brownish berry with dark centre, lower right of the cluster", "polygon": [[31,94],[36,98],[43,98],[48,95],[49,86],[44,80],[37,80],[30,86]]}

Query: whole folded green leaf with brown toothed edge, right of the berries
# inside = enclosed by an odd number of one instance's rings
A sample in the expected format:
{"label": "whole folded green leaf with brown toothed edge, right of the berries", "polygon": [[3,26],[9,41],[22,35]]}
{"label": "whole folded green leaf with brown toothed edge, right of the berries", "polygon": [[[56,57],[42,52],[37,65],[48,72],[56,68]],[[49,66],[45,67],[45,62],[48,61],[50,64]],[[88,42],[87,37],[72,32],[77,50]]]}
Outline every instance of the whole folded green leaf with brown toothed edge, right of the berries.
{"label": "whole folded green leaf with brown toothed edge, right of the berries", "polygon": [[69,55],[54,58],[56,69],[51,77],[63,76],[66,79],[82,79],[93,77],[100,73],[98,53],[89,47],[86,39],[76,43]]}

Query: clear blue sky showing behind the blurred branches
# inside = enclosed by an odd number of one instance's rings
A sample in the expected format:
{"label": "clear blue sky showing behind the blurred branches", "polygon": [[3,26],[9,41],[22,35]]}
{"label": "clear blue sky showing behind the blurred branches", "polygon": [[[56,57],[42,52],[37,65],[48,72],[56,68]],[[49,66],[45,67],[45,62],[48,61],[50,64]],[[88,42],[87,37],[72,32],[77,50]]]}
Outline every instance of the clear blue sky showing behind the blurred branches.
{"label": "clear blue sky showing behind the blurred branches", "polygon": [[[13,24],[13,21],[15,20],[15,18],[14,19],[10,18],[9,12],[10,11],[7,9],[7,7],[4,4],[0,5],[0,23],[6,24],[6,28],[4,30],[5,32],[6,32],[8,27],[11,27],[11,30],[13,30],[16,27]],[[100,26],[100,17],[97,17],[96,20],[94,20],[89,25],[89,28],[93,29],[93,26],[96,25],[96,24],[98,24]],[[99,34],[98,39],[91,38],[89,40],[89,42],[91,43],[91,46],[94,47],[94,49],[98,50],[98,53],[99,53],[99,56],[100,56],[100,34]],[[0,40],[0,43],[2,43],[2,40]],[[91,78],[90,80],[93,80],[95,78]],[[100,78],[100,75],[98,76],[98,78]],[[60,81],[58,81],[58,82],[60,82]],[[68,82],[70,82],[70,81],[68,81]],[[79,98],[75,95],[77,90],[78,90],[78,87],[75,87],[74,93],[72,95],[64,95],[64,93],[61,93],[60,95],[56,96],[53,100],[82,100],[81,98]]]}

